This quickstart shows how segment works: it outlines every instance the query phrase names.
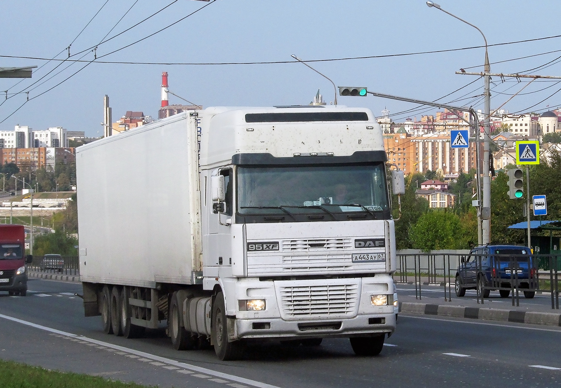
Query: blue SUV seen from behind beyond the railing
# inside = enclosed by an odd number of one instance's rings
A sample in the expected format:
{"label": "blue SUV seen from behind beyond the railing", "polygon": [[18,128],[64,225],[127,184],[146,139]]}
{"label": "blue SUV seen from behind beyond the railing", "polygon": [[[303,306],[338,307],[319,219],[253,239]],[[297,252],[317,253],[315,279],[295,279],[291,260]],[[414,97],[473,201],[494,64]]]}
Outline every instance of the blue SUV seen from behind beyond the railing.
{"label": "blue SUV seen from behind beyond the railing", "polygon": [[537,271],[530,248],[516,245],[488,245],[473,248],[462,257],[456,270],[456,295],[463,297],[467,289],[479,289],[488,298],[491,290],[499,290],[503,298],[512,286],[522,289],[526,298],[534,298]]}

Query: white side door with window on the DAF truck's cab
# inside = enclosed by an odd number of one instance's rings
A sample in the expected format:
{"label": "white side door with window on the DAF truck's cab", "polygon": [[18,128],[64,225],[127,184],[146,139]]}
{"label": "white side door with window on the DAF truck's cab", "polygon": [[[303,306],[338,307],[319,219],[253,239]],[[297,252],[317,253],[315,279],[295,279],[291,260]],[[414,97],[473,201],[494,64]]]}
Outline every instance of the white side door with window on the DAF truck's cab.
{"label": "white side door with window on the DAF truck's cab", "polygon": [[209,255],[211,263],[217,266],[231,265],[231,229],[233,216],[233,177],[232,169],[219,170],[224,177],[226,198],[223,213],[210,213],[209,217]]}

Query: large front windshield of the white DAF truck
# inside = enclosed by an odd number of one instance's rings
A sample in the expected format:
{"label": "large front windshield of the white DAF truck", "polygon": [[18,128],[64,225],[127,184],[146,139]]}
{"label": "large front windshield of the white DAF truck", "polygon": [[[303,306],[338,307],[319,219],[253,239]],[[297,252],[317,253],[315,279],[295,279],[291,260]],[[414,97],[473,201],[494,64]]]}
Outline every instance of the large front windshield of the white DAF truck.
{"label": "large front windshield of the white DAF truck", "polygon": [[384,169],[383,163],[239,167],[237,211],[240,215],[278,214],[292,219],[300,214],[337,218],[334,215],[351,213],[386,218],[381,215],[387,212],[389,216]]}

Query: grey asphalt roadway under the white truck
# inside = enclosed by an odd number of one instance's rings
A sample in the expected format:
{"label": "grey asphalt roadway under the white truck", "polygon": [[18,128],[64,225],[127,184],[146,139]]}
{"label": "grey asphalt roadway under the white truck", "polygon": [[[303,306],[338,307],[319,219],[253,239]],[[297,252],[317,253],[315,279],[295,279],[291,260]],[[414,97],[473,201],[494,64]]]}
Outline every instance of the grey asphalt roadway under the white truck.
{"label": "grey asphalt roadway under the white truck", "polygon": [[176,388],[561,385],[561,327],[400,313],[378,357],[356,357],[347,339],[332,339],[252,346],[242,361],[221,362],[211,349],[173,350],[163,330],[105,335],[75,293],[79,283],[34,278],[25,298],[0,293],[0,358]]}

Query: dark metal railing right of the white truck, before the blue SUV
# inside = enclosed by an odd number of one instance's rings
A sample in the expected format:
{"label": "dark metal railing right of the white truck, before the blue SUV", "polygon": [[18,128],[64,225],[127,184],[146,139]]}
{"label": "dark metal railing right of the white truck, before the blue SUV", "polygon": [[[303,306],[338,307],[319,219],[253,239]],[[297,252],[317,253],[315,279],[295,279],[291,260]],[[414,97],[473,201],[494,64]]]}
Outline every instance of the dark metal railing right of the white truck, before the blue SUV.
{"label": "dark metal railing right of the white truck, before the blue SUV", "polygon": [[[468,255],[458,255],[452,253],[416,253],[407,255],[398,255],[398,270],[394,273],[394,279],[401,283],[415,284],[415,298],[421,298],[421,285],[424,283],[438,284],[444,288],[444,300],[449,302],[452,300],[452,289],[456,282],[456,273],[462,268],[462,257]],[[485,255],[472,255],[476,259],[476,267],[482,271],[482,258]],[[528,288],[519,287],[518,270],[511,270],[510,279],[500,279],[499,264],[495,261],[495,275],[491,275],[490,284],[482,287],[476,287],[477,303],[485,303],[484,293],[487,289],[510,290],[512,305],[519,306],[520,291],[535,291],[538,293],[551,294],[551,308],[559,310],[559,272],[561,272],[561,256],[560,255],[517,255],[525,256],[521,260],[508,255],[491,255],[503,262],[508,262],[508,267],[518,269],[518,262],[527,262],[528,268],[534,267],[535,272],[528,281]],[[503,257],[499,257],[503,256]],[[530,257],[531,256],[531,257]],[[509,287],[504,287],[508,283]],[[456,293],[454,292],[454,297]]]}

